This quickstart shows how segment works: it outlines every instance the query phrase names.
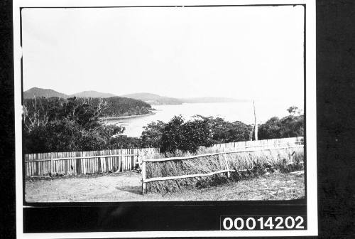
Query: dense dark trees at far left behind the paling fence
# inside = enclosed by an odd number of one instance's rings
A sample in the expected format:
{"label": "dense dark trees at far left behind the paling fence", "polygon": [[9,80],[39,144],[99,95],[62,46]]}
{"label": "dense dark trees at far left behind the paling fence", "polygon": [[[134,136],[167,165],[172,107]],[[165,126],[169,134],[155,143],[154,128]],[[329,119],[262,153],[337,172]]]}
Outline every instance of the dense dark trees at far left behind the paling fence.
{"label": "dense dark trees at far left behind the paling fence", "polygon": [[73,97],[25,101],[23,109],[24,152],[88,151],[108,148],[112,136],[124,128],[102,124],[107,107]]}

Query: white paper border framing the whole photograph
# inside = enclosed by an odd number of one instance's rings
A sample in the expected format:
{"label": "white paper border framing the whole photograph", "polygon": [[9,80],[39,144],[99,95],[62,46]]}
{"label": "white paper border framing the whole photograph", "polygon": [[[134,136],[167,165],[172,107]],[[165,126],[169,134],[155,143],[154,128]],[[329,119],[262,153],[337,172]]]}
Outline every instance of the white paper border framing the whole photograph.
{"label": "white paper border framing the whole photograph", "polygon": [[[22,85],[21,85],[21,15],[26,7],[100,7],[100,6],[245,6],[304,5],[305,9],[305,124],[307,134],[307,230],[202,230],[202,231],[136,231],[100,233],[23,233],[23,168],[22,168]],[[316,58],[315,0],[14,0],[13,1],[13,67],[16,142],[16,233],[17,238],[153,238],[153,237],[216,237],[216,236],[300,236],[317,235],[317,124],[316,124]],[[307,47],[306,47],[307,46]],[[307,99],[307,100],[306,100]]]}

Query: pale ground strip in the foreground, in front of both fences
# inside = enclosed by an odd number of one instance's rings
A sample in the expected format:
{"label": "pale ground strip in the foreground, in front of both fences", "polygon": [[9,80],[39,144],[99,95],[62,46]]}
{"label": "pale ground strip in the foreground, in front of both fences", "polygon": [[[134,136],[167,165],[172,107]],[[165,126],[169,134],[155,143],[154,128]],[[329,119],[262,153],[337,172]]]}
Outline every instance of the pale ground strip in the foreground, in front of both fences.
{"label": "pale ground strip in the foreground, in front of both fences", "polygon": [[175,193],[141,191],[141,174],[67,176],[26,180],[27,202],[288,200],[305,197],[303,174],[273,173],[254,179]]}

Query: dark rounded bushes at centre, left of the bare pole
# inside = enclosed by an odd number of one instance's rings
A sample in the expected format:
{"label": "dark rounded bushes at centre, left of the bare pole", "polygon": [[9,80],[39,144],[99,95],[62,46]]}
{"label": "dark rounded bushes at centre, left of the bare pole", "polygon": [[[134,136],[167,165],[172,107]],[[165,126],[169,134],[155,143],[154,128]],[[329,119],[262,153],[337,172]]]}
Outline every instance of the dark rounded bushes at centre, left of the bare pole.
{"label": "dark rounded bushes at centre, left of the bare pole", "polygon": [[251,128],[239,121],[226,122],[219,117],[200,115],[185,122],[179,115],[166,124],[161,121],[148,124],[141,139],[143,145],[160,147],[160,152],[196,152],[199,146],[248,140]]}

